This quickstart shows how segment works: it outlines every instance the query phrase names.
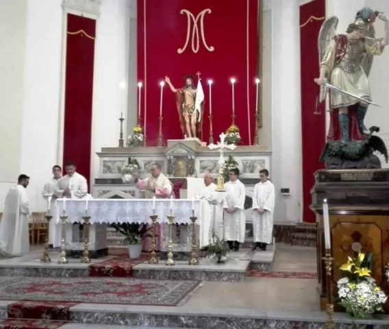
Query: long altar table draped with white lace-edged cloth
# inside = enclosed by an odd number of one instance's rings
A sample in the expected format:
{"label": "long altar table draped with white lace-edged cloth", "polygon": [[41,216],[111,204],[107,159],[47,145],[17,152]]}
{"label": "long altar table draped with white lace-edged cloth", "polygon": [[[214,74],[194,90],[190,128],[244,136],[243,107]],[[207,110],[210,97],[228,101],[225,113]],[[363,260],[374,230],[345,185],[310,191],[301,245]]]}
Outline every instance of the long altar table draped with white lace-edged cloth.
{"label": "long altar table draped with white lace-edged cloth", "polygon": [[[64,199],[56,200],[55,223],[60,224],[64,211]],[[158,223],[167,223],[166,216],[171,212],[175,215],[175,223],[186,226],[186,230],[178,230],[175,227],[175,238],[179,235],[181,239],[173,238],[173,249],[179,252],[186,252],[192,246],[191,232],[188,224],[191,223],[192,211],[197,217],[197,243],[199,247],[205,247],[210,241],[210,205],[201,199],[89,199],[88,204],[85,199],[66,199],[66,215],[68,216],[66,225],[66,250],[81,251],[83,240],[81,234],[77,234],[79,227],[73,223],[83,223],[82,217],[86,214],[90,216],[90,252],[92,254],[104,254],[106,249],[107,224],[110,223],[150,223],[150,215],[158,215]],[[168,243],[168,226],[164,225],[162,249],[166,249]],[[73,252],[69,252],[73,254]]]}

